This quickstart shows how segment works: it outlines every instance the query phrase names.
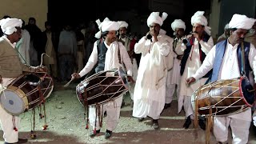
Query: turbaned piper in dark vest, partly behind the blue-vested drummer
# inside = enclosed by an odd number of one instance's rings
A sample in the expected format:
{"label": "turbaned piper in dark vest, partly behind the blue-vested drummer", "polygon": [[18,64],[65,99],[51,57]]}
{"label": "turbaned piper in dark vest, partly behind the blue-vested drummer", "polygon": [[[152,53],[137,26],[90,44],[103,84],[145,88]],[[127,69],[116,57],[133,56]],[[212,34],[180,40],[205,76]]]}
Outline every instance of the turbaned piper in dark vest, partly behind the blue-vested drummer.
{"label": "turbaned piper in dark vest, partly behind the blue-vested drummer", "polygon": [[[190,78],[195,74],[196,70],[202,65],[206,54],[214,46],[213,38],[210,36],[210,27],[207,26],[208,22],[203,15],[204,11],[198,11],[191,17],[191,25],[193,26],[192,34],[187,36],[188,43],[181,62],[181,87],[179,91],[178,100],[178,113],[184,107],[186,113],[186,122],[183,127],[189,128],[191,119],[194,118],[194,110],[191,105],[191,95],[199,86],[205,84],[210,73],[204,75],[203,78],[197,82],[192,83],[190,86],[186,85],[186,78]],[[202,119],[199,119],[199,126],[205,130],[205,124]]]}

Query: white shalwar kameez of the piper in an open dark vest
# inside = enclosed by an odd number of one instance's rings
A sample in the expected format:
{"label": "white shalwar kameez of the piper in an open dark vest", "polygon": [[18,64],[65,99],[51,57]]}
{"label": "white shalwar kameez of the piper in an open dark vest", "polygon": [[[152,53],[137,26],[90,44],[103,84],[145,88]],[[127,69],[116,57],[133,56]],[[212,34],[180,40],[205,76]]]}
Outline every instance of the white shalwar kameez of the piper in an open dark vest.
{"label": "white shalwar kameez of the piper in an open dark vest", "polygon": [[[202,52],[207,55],[210,49],[214,46],[213,38],[210,37],[208,42],[203,42],[201,40],[200,45]],[[181,87],[178,96],[178,113],[182,110],[182,106],[184,106],[186,118],[191,114],[191,118],[194,118],[194,110],[191,105],[191,95],[195,90],[198,89],[199,86],[204,85],[207,80],[207,78],[200,78],[198,81],[190,84],[190,86],[187,86],[186,78],[190,78],[192,75],[194,75],[201,65],[202,62],[200,61],[199,42],[197,38],[195,38],[194,46],[191,47],[190,56],[187,58],[185,70],[182,74]]]}

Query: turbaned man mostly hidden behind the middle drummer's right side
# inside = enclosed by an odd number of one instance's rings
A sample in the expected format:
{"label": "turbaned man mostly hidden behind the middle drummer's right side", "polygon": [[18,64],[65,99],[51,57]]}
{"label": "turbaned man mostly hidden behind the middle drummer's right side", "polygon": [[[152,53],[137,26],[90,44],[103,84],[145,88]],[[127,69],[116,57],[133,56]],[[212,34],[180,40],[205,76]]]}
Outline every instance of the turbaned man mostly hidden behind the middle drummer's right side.
{"label": "turbaned man mostly hidden behind the middle drummer's right side", "polygon": [[[133,64],[133,78],[134,80],[136,80],[137,78],[137,73],[138,73],[138,66],[137,66],[137,62],[136,59],[134,58],[134,49],[130,49],[130,38],[126,35],[127,33],[127,28],[128,28],[128,23],[125,21],[118,21],[120,27],[118,30],[118,34],[119,34],[119,38],[118,41],[122,42],[122,44],[126,47],[126,50],[130,56],[130,61]],[[130,89],[129,89],[129,94],[130,94],[130,98],[133,101],[134,100],[134,86],[135,86],[135,82],[134,83],[130,83]],[[122,100],[122,106],[125,105],[124,99]],[[133,104],[133,102],[131,102]]]}

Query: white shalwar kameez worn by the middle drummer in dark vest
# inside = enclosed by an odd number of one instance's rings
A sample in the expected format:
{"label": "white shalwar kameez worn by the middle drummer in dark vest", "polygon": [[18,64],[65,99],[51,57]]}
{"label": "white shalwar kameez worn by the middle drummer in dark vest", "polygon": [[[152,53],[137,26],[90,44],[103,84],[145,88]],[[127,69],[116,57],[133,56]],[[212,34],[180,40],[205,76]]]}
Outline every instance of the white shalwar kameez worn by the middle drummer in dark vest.
{"label": "white shalwar kameez worn by the middle drummer in dark vest", "polygon": [[[122,67],[122,64],[119,63],[118,59],[118,47],[121,54],[121,60],[126,66],[127,75],[132,76],[132,64],[130,62],[130,57],[126,51],[125,46],[122,45],[122,42],[112,42],[110,46],[104,42],[106,48],[106,59],[105,59],[105,69],[104,70],[112,70]],[[119,46],[118,46],[119,45]],[[86,63],[86,66],[80,71],[79,75],[82,77],[85,74],[88,74],[90,70],[93,69],[94,65],[98,62],[98,50],[97,50],[97,42],[94,42],[94,49],[92,54],[90,54],[90,58]],[[100,106],[100,110],[102,110],[102,114],[106,111],[106,129],[113,131],[118,125],[118,119],[120,116],[120,108],[122,104],[122,96],[116,98],[114,101],[107,102],[106,104]],[[95,128],[95,120],[96,122],[96,130],[100,130],[99,119],[97,116],[96,119],[96,108],[94,106],[90,106],[89,108],[89,121],[90,125]]]}

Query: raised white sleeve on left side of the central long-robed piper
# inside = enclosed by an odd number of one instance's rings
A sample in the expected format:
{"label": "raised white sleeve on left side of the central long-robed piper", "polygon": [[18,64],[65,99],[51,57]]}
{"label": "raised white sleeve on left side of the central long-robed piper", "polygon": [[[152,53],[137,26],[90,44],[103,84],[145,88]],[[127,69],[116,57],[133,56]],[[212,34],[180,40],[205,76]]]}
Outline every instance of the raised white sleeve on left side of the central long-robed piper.
{"label": "raised white sleeve on left side of the central long-robed piper", "polygon": [[150,40],[146,40],[146,37],[142,37],[137,43],[134,45],[134,53],[136,54],[147,54],[150,50]]}

